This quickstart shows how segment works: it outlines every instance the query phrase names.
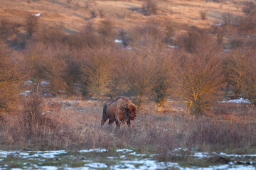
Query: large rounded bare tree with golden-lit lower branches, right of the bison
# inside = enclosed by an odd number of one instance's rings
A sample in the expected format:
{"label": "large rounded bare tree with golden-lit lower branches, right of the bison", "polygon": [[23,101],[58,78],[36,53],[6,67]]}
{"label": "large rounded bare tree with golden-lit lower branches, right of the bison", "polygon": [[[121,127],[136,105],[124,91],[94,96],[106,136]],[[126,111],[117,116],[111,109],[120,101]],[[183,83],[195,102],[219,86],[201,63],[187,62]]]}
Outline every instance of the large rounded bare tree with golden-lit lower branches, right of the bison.
{"label": "large rounded bare tree with golden-lit lower branches, right of the bison", "polygon": [[213,37],[205,34],[189,48],[192,53],[180,53],[179,64],[174,73],[178,96],[191,113],[202,113],[214,103],[218,90],[223,86],[224,73],[220,47]]}

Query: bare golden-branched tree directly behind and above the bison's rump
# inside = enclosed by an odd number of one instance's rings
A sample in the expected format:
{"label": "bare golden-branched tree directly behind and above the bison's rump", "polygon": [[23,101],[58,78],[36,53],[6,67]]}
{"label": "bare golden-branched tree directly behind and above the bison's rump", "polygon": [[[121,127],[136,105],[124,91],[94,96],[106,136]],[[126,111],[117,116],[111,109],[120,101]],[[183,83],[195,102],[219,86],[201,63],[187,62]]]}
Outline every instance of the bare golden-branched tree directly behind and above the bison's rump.
{"label": "bare golden-branched tree directly behind and above the bison's rump", "polygon": [[112,47],[87,49],[81,68],[84,94],[92,93],[99,97],[110,91],[113,57]]}

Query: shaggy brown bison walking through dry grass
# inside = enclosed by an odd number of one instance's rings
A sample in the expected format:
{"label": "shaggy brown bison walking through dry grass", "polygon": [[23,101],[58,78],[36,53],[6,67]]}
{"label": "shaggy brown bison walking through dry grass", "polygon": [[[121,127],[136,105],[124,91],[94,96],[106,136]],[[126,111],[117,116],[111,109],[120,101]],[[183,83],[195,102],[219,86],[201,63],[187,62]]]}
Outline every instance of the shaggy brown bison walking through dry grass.
{"label": "shaggy brown bison walking through dry grass", "polygon": [[120,124],[127,122],[127,125],[131,126],[131,120],[137,118],[136,114],[137,107],[124,96],[117,97],[115,100],[107,100],[103,104],[103,114],[101,125],[109,120],[109,125],[112,123],[117,124],[117,127],[120,127]]}

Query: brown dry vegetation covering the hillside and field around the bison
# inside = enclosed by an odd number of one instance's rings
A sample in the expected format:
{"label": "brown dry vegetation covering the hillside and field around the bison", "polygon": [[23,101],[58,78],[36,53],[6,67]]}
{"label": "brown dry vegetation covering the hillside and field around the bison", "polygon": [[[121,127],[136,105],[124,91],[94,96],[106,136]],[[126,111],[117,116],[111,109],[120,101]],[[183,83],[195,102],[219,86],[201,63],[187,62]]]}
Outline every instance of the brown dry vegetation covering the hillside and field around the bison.
{"label": "brown dry vegetation covering the hillside and field around the bison", "polygon": [[[6,16],[0,21],[1,144],[160,150],[255,145],[255,108],[218,103],[243,97],[256,104],[255,4],[59,1],[0,2],[27,10],[0,6]],[[41,13],[38,5],[52,8]],[[192,7],[207,11],[205,6],[218,14],[208,11],[206,20],[203,12],[201,21],[198,12],[188,13]],[[19,64],[28,75],[23,81],[32,83],[19,86]],[[20,96],[9,115],[18,88],[32,94]],[[140,106],[140,123],[100,129],[101,101],[122,95]],[[79,96],[80,103],[59,102],[58,96]],[[93,100],[100,101],[88,104]]]}

